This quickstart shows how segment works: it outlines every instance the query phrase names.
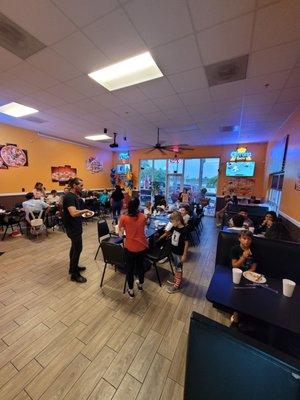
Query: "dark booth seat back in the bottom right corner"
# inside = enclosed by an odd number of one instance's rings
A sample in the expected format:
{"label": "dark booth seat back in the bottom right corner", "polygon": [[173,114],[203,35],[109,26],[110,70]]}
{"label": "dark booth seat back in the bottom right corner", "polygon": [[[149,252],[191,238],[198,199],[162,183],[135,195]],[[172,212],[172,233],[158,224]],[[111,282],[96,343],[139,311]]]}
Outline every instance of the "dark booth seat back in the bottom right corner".
{"label": "dark booth seat back in the bottom right corner", "polygon": [[192,313],[184,400],[299,400],[300,361]]}

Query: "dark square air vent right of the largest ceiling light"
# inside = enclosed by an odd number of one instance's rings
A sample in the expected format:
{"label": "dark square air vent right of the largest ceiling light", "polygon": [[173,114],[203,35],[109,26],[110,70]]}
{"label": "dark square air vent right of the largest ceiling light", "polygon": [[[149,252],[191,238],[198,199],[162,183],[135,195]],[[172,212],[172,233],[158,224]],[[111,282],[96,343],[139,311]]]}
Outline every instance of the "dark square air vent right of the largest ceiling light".
{"label": "dark square air vent right of the largest ceiling light", "polygon": [[209,86],[246,79],[248,55],[204,66]]}

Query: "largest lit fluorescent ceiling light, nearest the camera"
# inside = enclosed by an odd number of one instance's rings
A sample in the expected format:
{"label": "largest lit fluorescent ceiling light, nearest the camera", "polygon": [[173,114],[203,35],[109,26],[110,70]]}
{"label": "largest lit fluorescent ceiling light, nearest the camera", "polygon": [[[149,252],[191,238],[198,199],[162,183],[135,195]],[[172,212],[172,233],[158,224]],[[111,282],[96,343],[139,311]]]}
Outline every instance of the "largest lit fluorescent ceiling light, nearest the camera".
{"label": "largest lit fluorescent ceiling light, nearest the camera", "polygon": [[149,51],[89,74],[90,78],[110,91],[150,81],[161,76],[163,74]]}

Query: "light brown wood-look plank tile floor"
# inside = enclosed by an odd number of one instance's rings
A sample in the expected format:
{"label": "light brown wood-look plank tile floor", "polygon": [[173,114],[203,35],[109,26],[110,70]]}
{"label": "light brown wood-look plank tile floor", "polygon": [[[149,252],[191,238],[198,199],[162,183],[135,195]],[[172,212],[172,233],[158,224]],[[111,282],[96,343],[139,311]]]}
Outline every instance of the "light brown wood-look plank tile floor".
{"label": "light brown wood-look plank tile floor", "polygon": [[112,268],[99,288],[96,222],[84,227],[86,284],[68,279],[70,242],[62,232],[0,242],[0,399],[182,399],[191,311],[228,325],[205,299],[216,238],[214,219],[205,217],[182,292],[168,294],[150,271],[134,299],[123,295],[124,275]]}

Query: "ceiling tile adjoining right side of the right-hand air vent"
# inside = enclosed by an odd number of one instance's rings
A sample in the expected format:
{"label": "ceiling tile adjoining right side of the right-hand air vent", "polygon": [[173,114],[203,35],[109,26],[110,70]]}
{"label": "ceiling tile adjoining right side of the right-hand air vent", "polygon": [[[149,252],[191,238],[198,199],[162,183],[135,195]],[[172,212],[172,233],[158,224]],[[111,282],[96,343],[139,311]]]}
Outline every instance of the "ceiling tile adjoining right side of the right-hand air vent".
{"label": "ceiling tile adjoining right side of the right-hand air vent", "polygon": [[291,69],[300,55],[300,41],[287,43],[250,54],[247,77]]}

